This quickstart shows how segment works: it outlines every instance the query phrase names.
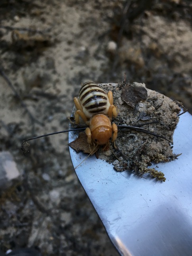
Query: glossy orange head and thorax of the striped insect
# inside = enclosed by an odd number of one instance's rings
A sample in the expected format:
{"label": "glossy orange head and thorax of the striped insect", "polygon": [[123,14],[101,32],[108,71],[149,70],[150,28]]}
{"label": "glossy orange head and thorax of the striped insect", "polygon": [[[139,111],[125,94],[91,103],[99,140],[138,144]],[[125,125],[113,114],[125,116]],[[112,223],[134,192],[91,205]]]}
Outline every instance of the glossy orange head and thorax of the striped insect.
{"label": "glossy orange head and thorax of the striped insect", "polygon": [[92,141],[98,145],[104,145],[112,137],[112,127],[106,115],[94,115],[90,120],[90,130]]}

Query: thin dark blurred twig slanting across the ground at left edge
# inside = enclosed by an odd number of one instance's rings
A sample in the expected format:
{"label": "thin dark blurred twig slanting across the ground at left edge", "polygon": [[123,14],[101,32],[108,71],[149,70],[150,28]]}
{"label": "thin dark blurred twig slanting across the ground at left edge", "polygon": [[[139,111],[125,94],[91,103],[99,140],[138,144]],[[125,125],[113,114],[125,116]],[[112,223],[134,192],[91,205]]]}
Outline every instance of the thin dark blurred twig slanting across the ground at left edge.
{"label": "thin dark blurred twig slanting across the ground at left edge", "polygon": [[31,114],[31,112],[29,111],[29,109],[27,108],[27,105],[25,104],[25,102],[23,102],[23,100],[21,99],[21,96],[18,94],[18,92],[15,90],[12,82],[10,81],[10,79],[7,77],[7,75],[4,73],[4,71],[2,70],[2,68],[0,67],[0,75],[2,75],[2,77],[5,79],[5,81],[8,83],[9,87],[12,89],[12,91],[14,92],[14,95],[16,98],[19,99],[19,101],[21,102],[21,106],[23,108],[25,108],[25,110],[27,111],[27,113],[29,114],[29,117],[31,118],[32,121],[43,125],[43,123],[41,123],[40,121],[36,120],[35,117],[33,116],[33,114]]}

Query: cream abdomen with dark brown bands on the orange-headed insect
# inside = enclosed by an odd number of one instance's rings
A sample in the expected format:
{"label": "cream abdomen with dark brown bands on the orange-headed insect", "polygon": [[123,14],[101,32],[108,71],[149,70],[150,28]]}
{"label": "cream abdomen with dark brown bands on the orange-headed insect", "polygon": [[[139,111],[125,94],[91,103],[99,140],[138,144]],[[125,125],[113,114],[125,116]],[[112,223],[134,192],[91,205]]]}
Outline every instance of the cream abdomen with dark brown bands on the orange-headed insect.
{"label": "cream abdomen with dark brown bands on the orange-headed insect", "polygon": [[90,118],[96,114],[108,114],[110,106],[108,95],[96,83],[84,83],[79,92],[79,101],[86,117]]}

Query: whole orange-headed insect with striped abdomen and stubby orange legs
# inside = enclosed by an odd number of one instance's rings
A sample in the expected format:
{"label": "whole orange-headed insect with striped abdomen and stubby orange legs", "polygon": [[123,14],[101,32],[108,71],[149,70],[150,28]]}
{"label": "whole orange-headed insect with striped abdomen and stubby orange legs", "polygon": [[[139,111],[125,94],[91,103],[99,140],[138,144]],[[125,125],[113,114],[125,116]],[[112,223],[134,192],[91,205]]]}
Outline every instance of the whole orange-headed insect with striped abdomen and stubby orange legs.
{"label": "whole orange-headed insect with striped abdomen and stubby orange legs", "polygon": [[[79,91],[79,98],[74,98],[77,111],[75,124],[79,124],[79,116],[86,125],[85,133],[89,144],[108,144],[117,139],[117,125],[111,125],[112,117],[117,117],[117,109],[113,105],[113,93],[108,94],[96,83],[84,83]],[[113,134],[112,134],[113,133]]]}

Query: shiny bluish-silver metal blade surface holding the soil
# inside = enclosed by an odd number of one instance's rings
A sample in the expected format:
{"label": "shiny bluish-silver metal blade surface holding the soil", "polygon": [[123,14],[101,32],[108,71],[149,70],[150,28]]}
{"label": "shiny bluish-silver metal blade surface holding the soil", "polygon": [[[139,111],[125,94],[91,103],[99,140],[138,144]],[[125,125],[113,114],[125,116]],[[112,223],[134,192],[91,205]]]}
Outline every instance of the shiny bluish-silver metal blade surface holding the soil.
{"label": "shiny bluish-silver metal blade surface holding the soil", "polygon": [[[69,133],[69,142],[78,133]],[[121,255],[192,255],[192,116],[180,116],[173,152],[178,160],[155,164],[165,182],[143,179],[89,157],[77,177]],[[87,156],[70,148],[74,168]]]}

